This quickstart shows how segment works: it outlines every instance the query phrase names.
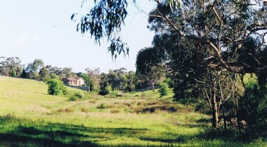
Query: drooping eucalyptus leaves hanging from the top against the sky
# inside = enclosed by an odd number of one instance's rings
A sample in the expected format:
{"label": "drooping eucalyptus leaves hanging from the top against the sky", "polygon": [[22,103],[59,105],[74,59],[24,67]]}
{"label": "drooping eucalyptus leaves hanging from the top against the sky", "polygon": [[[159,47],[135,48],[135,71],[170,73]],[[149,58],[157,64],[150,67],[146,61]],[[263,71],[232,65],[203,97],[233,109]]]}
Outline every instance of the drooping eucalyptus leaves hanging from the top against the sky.
{"label": "drooping eucalyptus leaves hanging from the top against the sky", "polygon": [[[128,1],[126,0],[95,1],[95,6],[91,8],[90,13],[79,19],[77,31],[82,34],[89,32],[99,45],[100,40],[107,37],[108,41],[111,42],[108,50],[110,50],[112,57],[115,56],[116,58],[117,54],[121,54],[121,52],[124,52],[124,55],[127,54],[129,48],[119,36],[119,31],[122,29],[121,26],[127,15],[127,5]],[[76,15],[77,13],[74,13],[71,19],[74,20]]]}

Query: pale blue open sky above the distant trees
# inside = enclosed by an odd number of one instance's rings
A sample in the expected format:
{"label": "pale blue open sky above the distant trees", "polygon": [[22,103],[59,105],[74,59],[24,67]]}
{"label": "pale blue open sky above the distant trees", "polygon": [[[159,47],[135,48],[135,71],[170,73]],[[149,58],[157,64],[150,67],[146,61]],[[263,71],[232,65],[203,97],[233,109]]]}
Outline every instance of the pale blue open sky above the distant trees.
{"label": "pale blue open sky above the distant trees", "polygon": [[[91,0],[93,1],[93,0]],[[71,67],[74,72],[100,68],[101,72],[125,67],[136,71],[138,50],[150,47],[154,32],[149,31],[147,13],[154,8],[150,1],[140,0],[137,6],[129,4],[122,38],[129,45],[129,57],[119,55],[112,60],[108,43],[96,45],[90,34],[76,31],[73,13],[89,11],[92,3],[82,0],[0,0],[0,57],[20,57],[27,66],[34,59],[45,65]]]}

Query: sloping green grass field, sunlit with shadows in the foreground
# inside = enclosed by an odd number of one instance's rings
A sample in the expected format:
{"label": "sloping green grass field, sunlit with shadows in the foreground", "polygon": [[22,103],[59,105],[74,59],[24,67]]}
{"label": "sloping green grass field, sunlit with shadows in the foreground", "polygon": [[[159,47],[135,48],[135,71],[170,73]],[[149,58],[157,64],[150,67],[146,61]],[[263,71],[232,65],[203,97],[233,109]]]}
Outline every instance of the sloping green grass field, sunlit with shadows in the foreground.
{"label": "sloping green grass field, sunlit with shadows in the foreground", "polygon": [[[83,92],[68,87],[70,93]],[[86,99],[47,94],[37,80],[0,76],[0,146],[266,146],[201,139],[210,117],[192,106],[171,102],[172,93],[120,93],[102,97],[85,93]],[[97,109],[103,104],[103,109]],[[177,111],[161,109],[176,106]],[[153,112],[136,109],[157,108]],[[140,108],[139,108],[140,107]]]}

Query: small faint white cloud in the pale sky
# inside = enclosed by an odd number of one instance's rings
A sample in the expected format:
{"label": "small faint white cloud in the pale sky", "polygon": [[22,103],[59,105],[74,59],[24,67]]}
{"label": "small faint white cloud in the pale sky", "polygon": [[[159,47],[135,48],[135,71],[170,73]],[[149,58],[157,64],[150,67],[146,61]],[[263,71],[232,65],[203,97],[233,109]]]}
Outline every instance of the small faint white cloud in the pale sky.
{"label": "small faint white cloud in the pale sky", "polygon": [[15,43],[34,43],[39,40],[38,34],[21,34],[15,36],[12,41]]}

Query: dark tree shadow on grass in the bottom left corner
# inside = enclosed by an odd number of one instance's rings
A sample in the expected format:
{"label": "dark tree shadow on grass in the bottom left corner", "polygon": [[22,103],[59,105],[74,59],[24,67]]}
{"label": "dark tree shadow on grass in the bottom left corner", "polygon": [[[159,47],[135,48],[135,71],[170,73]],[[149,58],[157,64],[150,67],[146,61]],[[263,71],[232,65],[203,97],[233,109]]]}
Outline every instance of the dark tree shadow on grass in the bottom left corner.
{"label": "dark tree shadow on grass in the bottom left corner", "polygon": [[[101,128],[60,123],[34,123],[31,120],[0,117],[0,146],[100,146],[98,141],[133,137],[145,129]],[[23,123],[22,123],[23,122]],[[6,123],[9,123],[8,127]],[[30,126],[30,127],[28,127]]]}

